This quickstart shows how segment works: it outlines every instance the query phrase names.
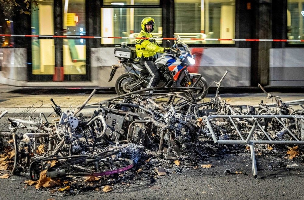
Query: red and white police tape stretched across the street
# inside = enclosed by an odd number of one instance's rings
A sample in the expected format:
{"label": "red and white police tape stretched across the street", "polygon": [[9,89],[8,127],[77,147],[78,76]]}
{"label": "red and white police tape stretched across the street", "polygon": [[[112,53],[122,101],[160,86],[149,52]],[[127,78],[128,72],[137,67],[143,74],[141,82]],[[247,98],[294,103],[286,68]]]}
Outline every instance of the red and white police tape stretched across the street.
{"label": "red and white police tape stretched across the street", "polygon": [[[136,37],[102,37],[102,36],[50,36],[50,35],[13,35],[0,34],[0,36],[9,37],[41,37],[41,38],[109,38],[109,39],[168,39],[176,40],[176,38],[136,38]],[[220,39],[220,38],[182,38],[184,40],[206,40],[206,41],[249,41],[249,42],[304,42],[304,39]]]}

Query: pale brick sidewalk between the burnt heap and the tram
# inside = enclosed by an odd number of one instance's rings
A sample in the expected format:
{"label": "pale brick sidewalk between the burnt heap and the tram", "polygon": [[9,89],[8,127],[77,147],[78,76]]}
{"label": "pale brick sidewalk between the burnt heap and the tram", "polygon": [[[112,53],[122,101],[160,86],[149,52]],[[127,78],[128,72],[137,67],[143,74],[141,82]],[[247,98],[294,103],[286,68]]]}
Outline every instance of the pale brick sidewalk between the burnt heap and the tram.
{"label": "pale brick sidewalk between the burnt heap and the tram", "polygon": [[[304,93],[272,93],[273,96],[279,95],[283,101],[303,99]],[[53,104],[50,98],[53,98],[55,103],[64,110],[72,106],[74,109],[82,105],[88,98],[89,94],[42,94],[42,95],[26,95],[17,93],[1,93],[0,94],[0,112],[3,110],[10,110],[9,112],[18,112],[25,110],[28,107],[39,108],[39,112],[53,112],[51,107]],[[114,94],[95,94],[88,103],[100,102],[111,97]],[[209,101],[214,97],[214,94],[209,94],[204,100]],[[222,99],[226,100],[229,104],[246,104],[257,105],[263,100],[264,103],[275,103],[275,100],[267,99],[264,93],[246,93],[246,94],[223,94]],[[34,106],[33,106],[34,105]],[[16,110],[17,109],[17,110]],[[88,112],[96,109],[96,107],[86,108]],[[89,111],[90,110],[90,111]],[[36,111],[38,112],[38,111]]]}

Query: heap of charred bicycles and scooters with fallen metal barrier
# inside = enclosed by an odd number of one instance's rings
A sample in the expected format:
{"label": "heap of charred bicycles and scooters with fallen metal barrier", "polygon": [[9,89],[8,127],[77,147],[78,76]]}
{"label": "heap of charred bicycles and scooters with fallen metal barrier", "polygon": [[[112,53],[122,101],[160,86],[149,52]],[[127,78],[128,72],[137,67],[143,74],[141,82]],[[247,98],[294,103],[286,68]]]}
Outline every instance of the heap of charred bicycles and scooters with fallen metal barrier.
{"label": "heap of charred bicycles and scooters with fallen metal barrier", "polygon": [[[65,112],[51,99],[60,117],[55,123],[43,113],[33,118],[30,108],[14,117],[4,112],[0,118],[8,121],[0,127],[1,169],[26,172],[40,188],[43,180],[60,185],[60,179],[103,177],[115,183],[134,179],[142,170],[183,173],[210,156],[245,148],[257,178],[255,148],[278,146],[278,151],[289,150],[291,158],[298,156],[302,150],[297,148],[304,144],[304,99],[283,102],[260,86],[274,104],[231,105],[219,95],[223,78],[214,82],[218,89],[209,102],[196,99],[202,88],[154,87],[88,104],[94,90],[78,110]],[[81,113],[96,104],[92,116]],[[175,168],[181,162],[184,167]]]}

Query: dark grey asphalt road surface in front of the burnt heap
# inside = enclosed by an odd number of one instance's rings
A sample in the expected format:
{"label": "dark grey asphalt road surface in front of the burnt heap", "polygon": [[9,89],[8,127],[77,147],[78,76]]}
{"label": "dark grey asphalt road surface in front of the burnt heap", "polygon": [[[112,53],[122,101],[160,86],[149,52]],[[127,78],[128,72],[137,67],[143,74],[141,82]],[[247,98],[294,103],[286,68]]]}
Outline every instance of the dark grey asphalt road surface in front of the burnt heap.
{"label": "dark grey asphalt road surface in front of the burnt heap", "polygon": [[[23,182],[28,177],[11,176],[0,179],[1,199],[302,199],[304,165],[297,167],[269,168],[275,157],[257,158],[259,177],[251,176],[249,153],[227,155],[223,158],[208,159],[202,164],[212,164],[209,169],[184,169],[181,174],[155,175],[151,184],[144,172],[141,180],[129,180],[128,184],[118,182],[113,191],[104,193],[102,186],[79,192],[77,188],[69,192],[50,193],[52,189],[36,190]],[[182,168],[179,166],[178,168]],[[136,168],[136,167],[135,167]],[[242,171],[244,174],[226,175],[225,170]],[[248,174],[248,175],[246,175]],[[149,177],[151,175],[148,175]],[[152,175],[154,177],[154,175]],[[138,177],[137,177],[138,178]],[[147,180],[149,179],[149,180]],[[107,181],[97,185],[108,185]],[[78,189],[80,190],[80,189]]]}

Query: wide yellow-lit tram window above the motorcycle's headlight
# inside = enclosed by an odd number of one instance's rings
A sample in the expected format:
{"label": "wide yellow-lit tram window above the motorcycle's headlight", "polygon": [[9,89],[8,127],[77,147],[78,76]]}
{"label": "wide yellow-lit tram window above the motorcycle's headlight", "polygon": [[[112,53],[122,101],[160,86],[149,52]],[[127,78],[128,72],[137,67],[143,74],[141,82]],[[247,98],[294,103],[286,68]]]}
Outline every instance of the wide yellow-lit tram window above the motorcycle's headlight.
{"label": "wide yellow-lit tram window above the motorcycle's headlight", "polygon": [[[181,38],[235,38],[235,0],[175,0],[174,3],[174,34]],[[185,42],[234,44],[234,41]]]}

